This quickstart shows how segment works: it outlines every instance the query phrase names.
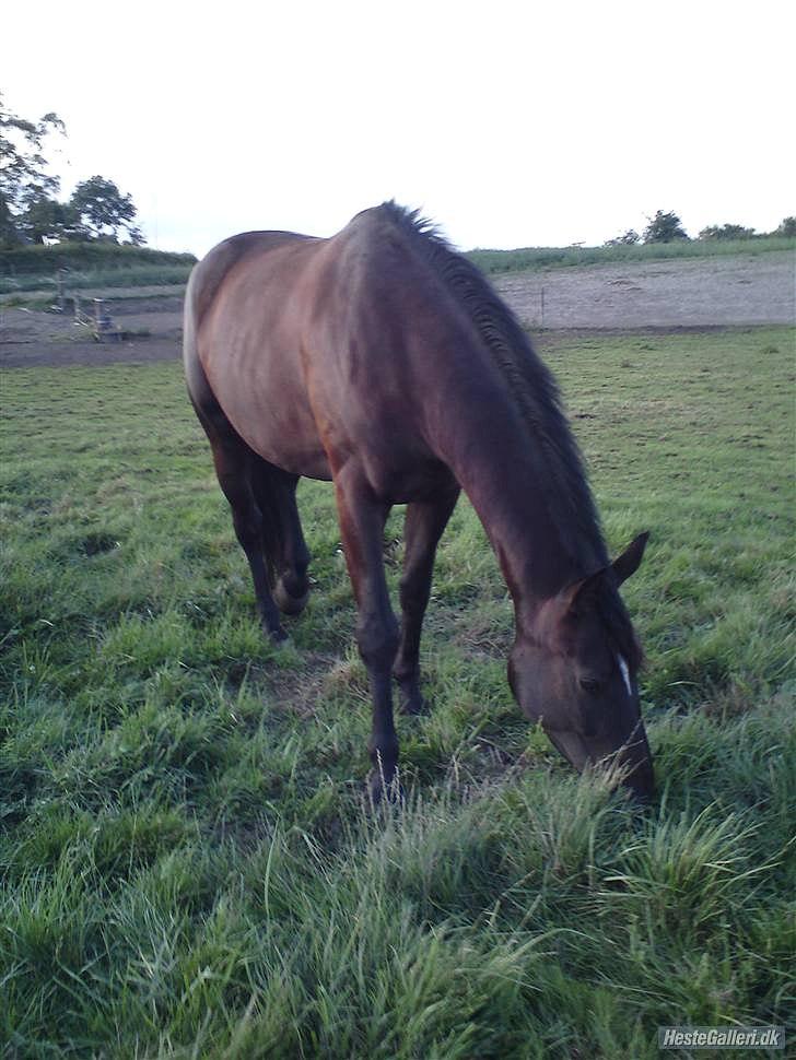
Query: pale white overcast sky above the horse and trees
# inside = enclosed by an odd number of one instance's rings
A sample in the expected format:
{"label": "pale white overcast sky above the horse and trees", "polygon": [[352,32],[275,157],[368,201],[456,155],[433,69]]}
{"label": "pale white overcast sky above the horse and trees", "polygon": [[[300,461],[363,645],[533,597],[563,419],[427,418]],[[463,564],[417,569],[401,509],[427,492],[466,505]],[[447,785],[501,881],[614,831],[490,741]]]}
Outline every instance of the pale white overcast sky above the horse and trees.
{"label": "pale white overcast sky above the horse and trees", "polygon": [[463,249],[796,214],[792,0],[45,0],[2,25],[7,106],[67,125],[62,197],[109,177],[164,250],[390,198]]}

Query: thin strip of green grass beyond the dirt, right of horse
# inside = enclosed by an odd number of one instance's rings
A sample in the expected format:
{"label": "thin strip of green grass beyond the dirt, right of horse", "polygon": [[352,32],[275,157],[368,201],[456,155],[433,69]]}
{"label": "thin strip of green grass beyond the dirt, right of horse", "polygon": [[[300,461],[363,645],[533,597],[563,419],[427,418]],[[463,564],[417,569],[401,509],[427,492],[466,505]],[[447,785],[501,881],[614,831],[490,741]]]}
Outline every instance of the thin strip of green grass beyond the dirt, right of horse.
{"label": "thin strip of green grass beyond the dirt, right of horse", "polygon": [[600,264],[612,261],[664,261],[669,258],[715,258],[794,250],[789,236],[752,239],[678,239],[618,247],[525,247],[516,250],[470,250],[467,255],[482,272],[527,272],[539,269]]}

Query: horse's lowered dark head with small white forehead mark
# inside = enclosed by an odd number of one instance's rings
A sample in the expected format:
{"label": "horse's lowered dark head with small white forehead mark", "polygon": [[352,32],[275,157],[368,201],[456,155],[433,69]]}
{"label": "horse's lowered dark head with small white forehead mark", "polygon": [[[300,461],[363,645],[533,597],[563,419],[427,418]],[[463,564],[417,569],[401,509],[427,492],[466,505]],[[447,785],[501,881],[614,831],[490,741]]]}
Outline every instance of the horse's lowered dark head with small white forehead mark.
{"label": "horse's lowered dark head with small white forehead mark", "polygon": [[614,765],[636,796],[653,793],[652,756],[639,708],[641,649],[617,591],[641,563],[641,534],[609,567],[547,600],[518,631],[508,681],[576,769]]}

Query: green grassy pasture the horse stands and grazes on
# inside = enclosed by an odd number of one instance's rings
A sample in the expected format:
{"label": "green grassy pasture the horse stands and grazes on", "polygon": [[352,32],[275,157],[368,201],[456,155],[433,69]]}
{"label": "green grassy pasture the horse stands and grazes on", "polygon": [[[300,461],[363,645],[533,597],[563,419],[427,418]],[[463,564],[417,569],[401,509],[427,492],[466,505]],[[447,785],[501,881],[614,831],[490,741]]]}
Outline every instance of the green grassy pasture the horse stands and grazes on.
{"label": "green grassy pasture the horse stands and grazes on", "polygon": [[[795,339],[545,341],[611,550],[652,531],[647,814],[520,717],[463,499],[407,804],[374,816],[329,486],[301,487],[314,596],[274,648],[179,365],[7,370],[0,1051],[653,1058],[659,1024],[787,1024]],[[399,511],[385,555],[395,587]]]}

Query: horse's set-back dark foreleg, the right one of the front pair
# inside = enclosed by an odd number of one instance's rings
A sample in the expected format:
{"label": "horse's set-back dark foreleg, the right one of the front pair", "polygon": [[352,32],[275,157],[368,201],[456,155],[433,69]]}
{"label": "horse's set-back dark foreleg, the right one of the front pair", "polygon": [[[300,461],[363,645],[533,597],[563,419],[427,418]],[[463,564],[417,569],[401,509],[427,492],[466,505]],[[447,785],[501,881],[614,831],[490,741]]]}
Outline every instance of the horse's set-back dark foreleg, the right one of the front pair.
{"label": "horse's set-back dark foreleg, the right one of the front pair", "polygon": [[401,709],[420,714],[420,634],[431,593],[434,555],[459,496],[458,485],[433,500],[407,505],[403,525],[403,575],[401,577],[401,638],[393,673],[400,688]]}

